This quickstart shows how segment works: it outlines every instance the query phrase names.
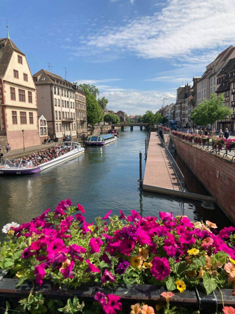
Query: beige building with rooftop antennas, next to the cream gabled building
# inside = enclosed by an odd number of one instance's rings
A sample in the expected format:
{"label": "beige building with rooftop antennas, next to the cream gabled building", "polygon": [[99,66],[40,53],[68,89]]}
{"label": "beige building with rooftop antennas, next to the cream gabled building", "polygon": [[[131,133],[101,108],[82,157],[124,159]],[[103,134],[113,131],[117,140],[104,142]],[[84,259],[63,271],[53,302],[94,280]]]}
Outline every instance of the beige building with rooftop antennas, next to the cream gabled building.
{"label": "beige building with rooftop antennas, next to the cream gabled building", "polygon": [[61,76],[41,69],[33,75],[37,86],[38,113],[47,120],[48,135],[77,137],[75,90]]}

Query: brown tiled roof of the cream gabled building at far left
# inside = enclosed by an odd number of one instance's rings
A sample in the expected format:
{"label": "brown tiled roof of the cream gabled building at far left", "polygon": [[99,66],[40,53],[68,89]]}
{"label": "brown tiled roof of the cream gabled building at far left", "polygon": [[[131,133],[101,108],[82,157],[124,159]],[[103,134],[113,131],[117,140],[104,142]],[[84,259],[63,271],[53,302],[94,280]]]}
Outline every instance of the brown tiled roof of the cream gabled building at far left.
{"label": "brown tiled roof of the cream gabled building at far left", "polygon": [[[3,47],[2,44],[4,44]],[[24,55],[24,53],[19,50],[19,48],[13,43],[11,39],[0,38],[0,78],[3,78],[6,73],[13,51]]]}

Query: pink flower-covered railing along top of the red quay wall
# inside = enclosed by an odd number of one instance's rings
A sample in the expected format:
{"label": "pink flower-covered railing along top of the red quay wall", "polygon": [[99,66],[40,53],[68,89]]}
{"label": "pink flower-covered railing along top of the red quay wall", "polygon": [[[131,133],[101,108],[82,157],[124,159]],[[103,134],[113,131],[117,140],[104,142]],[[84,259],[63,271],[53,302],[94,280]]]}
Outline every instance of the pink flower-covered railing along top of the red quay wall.
{"label": "pink flower-covered railing along top of the red quay wall", "polygon": [[186,143],[190,143],[192,145],[206,147],[209,149],[211,146],[211,152],[215,152],[216,154],[220,154],[222,149],[225,150],[223,156],[232,156],[232,160],[235,158],[235,154],[228,154],[228,152],[234,151],[235,153],[235,139],[233,138],[219,138],[219,137],[210,137],[207,135],[195,135],[191,133],[184,133],[179,131],[172,131],[172,135],[176,138],[179,138]]}

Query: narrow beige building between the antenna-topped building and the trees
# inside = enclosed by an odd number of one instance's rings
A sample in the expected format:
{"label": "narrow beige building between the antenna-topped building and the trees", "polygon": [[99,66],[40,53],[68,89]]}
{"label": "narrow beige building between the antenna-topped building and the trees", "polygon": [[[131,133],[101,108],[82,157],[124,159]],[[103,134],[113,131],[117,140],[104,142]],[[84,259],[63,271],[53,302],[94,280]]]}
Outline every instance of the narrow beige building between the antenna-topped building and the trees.
{"label": "narrow beige building between the antenna-topped building and the trees", "polygon": [[75,90],[75,107],[76,107],[76,126],[77,134],[87,132],[86,118],[86,93],[83,88],[78,85],[72,85]]}

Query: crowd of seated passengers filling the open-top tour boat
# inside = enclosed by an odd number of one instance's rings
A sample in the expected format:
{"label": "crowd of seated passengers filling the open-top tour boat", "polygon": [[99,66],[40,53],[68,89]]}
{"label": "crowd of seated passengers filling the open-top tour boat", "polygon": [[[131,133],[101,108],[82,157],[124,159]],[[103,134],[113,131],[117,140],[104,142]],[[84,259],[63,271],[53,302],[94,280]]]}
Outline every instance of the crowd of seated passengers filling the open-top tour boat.
{"label": "crowd of seated passengers filling the open-top tour boat", "polygon": [[62,148],[61,146],[56,147],[50,147],[45,150],[39,150],[36,153],[29,154],[26,157],[23,157],[22,160],[15,160],[14,163],[11,161],[12,165],[17,166],[19,163],[19,167],[25,167],[26,163],[25,161],[28,161],[30,164],[32,164],[34,167],[37,167],[38,165],[44,164],[46,162],[49,162],[50,160],[53,160],[55,158],[58,158],[71,150],[75,149],[76,147],[68,147],[68,148]]}

